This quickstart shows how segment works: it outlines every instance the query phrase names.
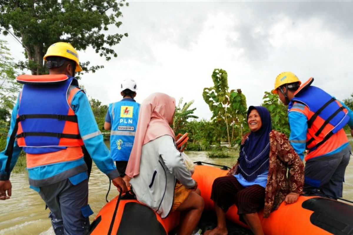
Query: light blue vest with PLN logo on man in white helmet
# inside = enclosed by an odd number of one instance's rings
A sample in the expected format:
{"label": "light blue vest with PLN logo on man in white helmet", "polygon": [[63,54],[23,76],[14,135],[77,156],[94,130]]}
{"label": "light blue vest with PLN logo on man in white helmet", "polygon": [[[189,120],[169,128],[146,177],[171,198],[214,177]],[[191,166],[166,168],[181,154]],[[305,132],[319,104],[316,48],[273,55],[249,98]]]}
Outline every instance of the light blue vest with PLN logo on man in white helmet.
{"label": "light blue vest with PLN logo on man in white helmet", "polygon": [[122,100],[109,104],[110,156],[114,161],[128,161],[135,139],[140,104]]}

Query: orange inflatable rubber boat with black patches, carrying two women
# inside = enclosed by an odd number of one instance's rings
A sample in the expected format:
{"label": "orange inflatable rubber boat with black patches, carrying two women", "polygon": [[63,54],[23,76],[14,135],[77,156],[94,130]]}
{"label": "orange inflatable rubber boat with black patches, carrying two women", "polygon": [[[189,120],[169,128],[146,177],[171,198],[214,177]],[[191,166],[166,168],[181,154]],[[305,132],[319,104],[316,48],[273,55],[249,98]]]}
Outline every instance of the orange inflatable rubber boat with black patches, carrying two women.
{"label": "orange inflatable rubber boat with black patches, carrying two women", "polygon": [[[210,199],[213,181],[227,172],[213,166],[195,166],[192,178],[201,190],[205,210],[214,210]],[[353,206],[327,198],[300,196],[294,204],[283,202],[268,218],[263,218],[263,211],[258,215],[264,233],[268,235],[353,235]],[[247,227],[239,221],[235,205],[229,208],[226,216]],[[167,235],[178,223],[178,212],[161,219],[136,199],[115,197],[101,209],[86,234]]]}

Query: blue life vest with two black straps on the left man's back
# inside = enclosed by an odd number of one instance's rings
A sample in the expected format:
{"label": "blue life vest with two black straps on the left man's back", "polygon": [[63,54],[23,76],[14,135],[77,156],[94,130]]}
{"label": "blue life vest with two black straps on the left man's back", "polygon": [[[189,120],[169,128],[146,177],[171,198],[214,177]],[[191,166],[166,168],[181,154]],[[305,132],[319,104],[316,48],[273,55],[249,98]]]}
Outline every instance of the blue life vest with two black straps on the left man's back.
{"label": "blue life vest with two black straps on the left man's back", "polygon": [[[27,76],[18,110],[19,146],[30,154],[50,153],[66,147],[83,146],[77,117],[68,104],[67,93],[76,78],[60,75],[66,80],[52,81],[53,75]],[[39,77],[41,80],[38,82]],[[48,79],[50,81],[48,81]],[[79,89],[75,90],[75,93]],[[70,122],[70,123],[68,123]],[[38,148],[41,147],[41,148]]]}

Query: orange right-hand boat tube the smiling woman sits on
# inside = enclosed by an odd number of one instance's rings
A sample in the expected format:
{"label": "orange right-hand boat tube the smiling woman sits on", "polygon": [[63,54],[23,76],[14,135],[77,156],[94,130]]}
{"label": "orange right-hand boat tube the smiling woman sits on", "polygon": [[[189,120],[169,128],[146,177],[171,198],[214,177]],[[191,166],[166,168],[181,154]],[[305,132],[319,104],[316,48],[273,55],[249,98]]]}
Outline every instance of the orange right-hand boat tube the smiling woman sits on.
{"label": "orange right-hand boat tube the smiling woman sits on", "polygon": [[[214,210],[213,201],[210,199],[213,181],[217,177],[225,176],[227,172],[212,166],[195,166],[192,178],[197,181],[201,190],[205,210]],[[239,221],[237,211],[235,205],[231,206],[226,217],[247,227]],[[263,218],[263,211],[258,215],[264,233],[268,235],[353,234],[353,206],[327,198],[300,196],[296,203],[285,205],[283,202],[268,218]]]}

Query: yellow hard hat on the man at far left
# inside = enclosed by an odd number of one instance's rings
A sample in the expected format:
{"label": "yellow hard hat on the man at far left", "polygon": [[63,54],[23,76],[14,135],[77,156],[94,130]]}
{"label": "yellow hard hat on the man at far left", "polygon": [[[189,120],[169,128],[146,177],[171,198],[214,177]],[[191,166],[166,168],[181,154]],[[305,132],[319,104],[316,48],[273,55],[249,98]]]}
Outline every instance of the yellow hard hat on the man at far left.
{"label": "yellow hard hat on the man at far left", "polygon": [[76,70],[75,72],[82,71],[80,63],[78,61],[78,54],[75,48],[70,43],[67,42],[57,42],[51,45],[47,53],[44,55],[43,59],[47,61],[48,56],[60,56],[64,58],[68,58],[76,62]]}

